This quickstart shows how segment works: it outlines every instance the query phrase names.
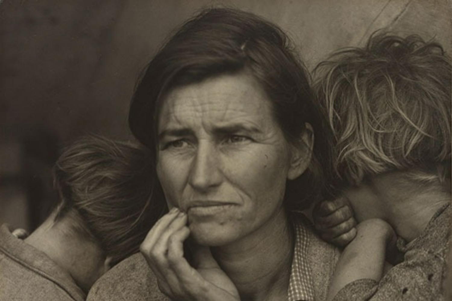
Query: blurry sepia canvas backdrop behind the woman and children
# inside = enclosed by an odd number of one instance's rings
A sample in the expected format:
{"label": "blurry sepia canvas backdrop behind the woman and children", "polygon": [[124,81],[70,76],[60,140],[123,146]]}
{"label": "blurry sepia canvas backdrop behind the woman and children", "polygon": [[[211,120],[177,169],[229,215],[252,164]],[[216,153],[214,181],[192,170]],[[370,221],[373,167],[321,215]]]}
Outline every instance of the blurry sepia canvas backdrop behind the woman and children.
{"label": "blurry sepia canvas backdrop behind the woman and children", "polygon": [[277,23],[309,69],[381,28],[451,51],[449,0],[0,0],[0,223],[42,221],[71,140],[132,140],[127,109],[144,65],[177,25],[218,5]]}

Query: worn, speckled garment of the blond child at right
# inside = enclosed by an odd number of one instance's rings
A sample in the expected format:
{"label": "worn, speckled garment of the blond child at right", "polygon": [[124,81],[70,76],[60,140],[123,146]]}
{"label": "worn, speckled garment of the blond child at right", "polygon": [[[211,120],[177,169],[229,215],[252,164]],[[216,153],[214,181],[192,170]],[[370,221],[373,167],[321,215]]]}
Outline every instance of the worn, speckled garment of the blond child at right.
{"label": "worn, speckled garment of the blond child at right", "polygon": [[346,285],[333,301],[441,301],[447,271],[451,232],[451,205],[440,208],[424,232],[397,247],[404,259],[390,269],[380,282],[360,279]]}

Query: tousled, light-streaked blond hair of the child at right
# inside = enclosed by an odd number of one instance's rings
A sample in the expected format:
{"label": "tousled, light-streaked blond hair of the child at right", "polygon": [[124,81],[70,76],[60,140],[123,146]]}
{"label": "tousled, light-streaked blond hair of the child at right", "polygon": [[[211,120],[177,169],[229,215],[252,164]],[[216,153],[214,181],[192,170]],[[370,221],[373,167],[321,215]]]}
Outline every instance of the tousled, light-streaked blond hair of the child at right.
{"label": "tousled, light-streaked blond hair of the child at right", "polygon": [[417,170],[419,181],[450,176],[451,60],[440,44],[373,34],[365,47],[320,63],[315,76],[339,181],[358,185],[392,170]]}

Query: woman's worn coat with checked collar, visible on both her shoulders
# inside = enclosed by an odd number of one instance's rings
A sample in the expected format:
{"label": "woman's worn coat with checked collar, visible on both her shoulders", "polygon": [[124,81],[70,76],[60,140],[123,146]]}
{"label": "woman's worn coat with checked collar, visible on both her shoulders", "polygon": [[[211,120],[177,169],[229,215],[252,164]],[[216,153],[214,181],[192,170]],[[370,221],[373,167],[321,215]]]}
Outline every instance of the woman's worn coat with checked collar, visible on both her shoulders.
{"label": "woman's worn coat with checked collar, visible on both her shoulders", "polygon": [[[311,223],[297,215],[294,259],[287,291],[289,301],[323,301],[339,259],[339,251],[315,235]],[[87,301],[169,301],[141,254],[125,259],[104,274]]]}

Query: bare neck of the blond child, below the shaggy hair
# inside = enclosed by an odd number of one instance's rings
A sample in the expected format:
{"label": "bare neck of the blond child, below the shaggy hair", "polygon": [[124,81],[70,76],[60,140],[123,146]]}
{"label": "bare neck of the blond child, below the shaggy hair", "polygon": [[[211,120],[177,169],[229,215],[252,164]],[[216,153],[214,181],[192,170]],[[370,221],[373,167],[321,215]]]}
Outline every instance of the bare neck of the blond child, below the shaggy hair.
{"label": "bare neck of the blond child, below the shaggy hair", "polygon": [[381,218],[406,241],[421,235],[433,215],[450,203],[451,194],[432,184],[420,188],[418,183],[403,180],[403,172],[375,176],[366,184],[345,191],[358,222]]}

